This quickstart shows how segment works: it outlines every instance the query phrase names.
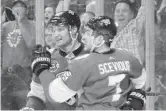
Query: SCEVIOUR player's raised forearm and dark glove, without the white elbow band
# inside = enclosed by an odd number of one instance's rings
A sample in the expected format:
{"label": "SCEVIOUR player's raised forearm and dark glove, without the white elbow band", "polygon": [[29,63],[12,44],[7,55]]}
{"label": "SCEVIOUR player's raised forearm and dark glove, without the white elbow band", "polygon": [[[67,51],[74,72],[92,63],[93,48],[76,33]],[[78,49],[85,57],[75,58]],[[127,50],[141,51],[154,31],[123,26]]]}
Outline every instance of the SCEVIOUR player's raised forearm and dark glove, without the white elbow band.
{"label": "SCEVIOUR player's raised forearm and dark glove, without the white elbow band", "polygon": [[49,96],[49,84],[55,79],[55,76],[49,71],[51,66],[51,54],[46,47],[36,45],[32,51],[31,68],[34,75],[39,78],[47,100],[53,102]]}

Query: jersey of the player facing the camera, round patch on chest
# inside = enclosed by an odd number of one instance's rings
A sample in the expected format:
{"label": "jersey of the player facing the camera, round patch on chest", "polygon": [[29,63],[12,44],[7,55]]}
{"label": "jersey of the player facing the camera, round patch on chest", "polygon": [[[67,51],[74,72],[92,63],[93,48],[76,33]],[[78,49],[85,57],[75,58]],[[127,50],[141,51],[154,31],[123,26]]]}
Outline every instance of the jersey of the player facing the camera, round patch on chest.
{"label": "jersey of the player facing the camera, round patch on chest", "polygon": [[[79,56],[81,54],[85,54],[86,52],[83,51],[83,44],[81,46],[74,50],[73,52],[66,54],[62,50],[55,50],[52,52],[51,56],[51,64],[52,67],[49,69],[51,73],[53,73],[56,77],[56,74],[59,72],[64,71],[68,67],[68,63],[70,60],[74,59],[76,56]],[[33,82],[31,83],[31,91],[28,94],[28,97],[30,96],[36,96],[40,99],[42,99],[44,102],[46,101],[46,97],[44,94],[43,87],[41,85],[40,79],[38,77],[33,77]],[[67,105],[66,103],[52,103],[53,107],[48,108],[50,110],[56,109],[56,110],[71,110],[71,106]]]}

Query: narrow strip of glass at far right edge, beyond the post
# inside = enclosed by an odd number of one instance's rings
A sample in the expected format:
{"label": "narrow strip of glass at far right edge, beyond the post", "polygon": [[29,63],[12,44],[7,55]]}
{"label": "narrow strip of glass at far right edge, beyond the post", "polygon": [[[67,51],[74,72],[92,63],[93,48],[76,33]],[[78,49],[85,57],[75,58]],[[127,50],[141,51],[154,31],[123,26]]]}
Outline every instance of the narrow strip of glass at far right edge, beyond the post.
{"label": "narrow strip of glass at far right edge, beyond the post", "polygon": [[166,110],[166,1],[155,0],[155,108]]}

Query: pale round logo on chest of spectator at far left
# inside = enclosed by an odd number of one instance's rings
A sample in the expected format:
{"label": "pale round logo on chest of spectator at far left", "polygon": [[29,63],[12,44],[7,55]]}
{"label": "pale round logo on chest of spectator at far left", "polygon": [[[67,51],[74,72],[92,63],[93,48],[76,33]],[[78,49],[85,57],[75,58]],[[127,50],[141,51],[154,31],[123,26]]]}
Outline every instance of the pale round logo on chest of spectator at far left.
{"label": "pale round logo on chest of spectator at far left", "polygon": [[7,42],[10,47],[17,47],[21,40],[21,30],[14,29],[13,32],[10,32],[7,37]]}

